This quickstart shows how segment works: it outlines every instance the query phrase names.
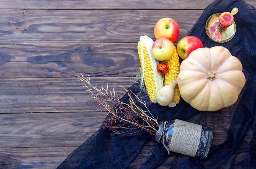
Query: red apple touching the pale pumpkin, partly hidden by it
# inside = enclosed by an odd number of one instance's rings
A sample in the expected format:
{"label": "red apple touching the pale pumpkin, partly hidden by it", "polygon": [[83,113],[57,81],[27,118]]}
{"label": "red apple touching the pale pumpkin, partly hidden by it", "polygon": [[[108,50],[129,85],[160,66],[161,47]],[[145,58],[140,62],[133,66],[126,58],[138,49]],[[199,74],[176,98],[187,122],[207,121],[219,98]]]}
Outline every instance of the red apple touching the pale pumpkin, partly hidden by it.
{"label": "red apple touching the pale pumpkin, partly hidden by it", "polygon": [[177,44],[177,53],[181,59],[186,59],[189,57],[189,54],[195,49],[202,48],[203,43],[198,37],[195,36],[186,36],[183,37]]}

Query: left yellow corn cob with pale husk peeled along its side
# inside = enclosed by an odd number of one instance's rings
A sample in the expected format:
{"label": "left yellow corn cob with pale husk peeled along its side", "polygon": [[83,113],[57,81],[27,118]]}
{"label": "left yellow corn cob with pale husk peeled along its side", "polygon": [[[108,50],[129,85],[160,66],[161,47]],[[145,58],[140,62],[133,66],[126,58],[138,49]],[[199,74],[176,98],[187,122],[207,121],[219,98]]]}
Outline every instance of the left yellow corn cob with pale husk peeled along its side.
{"label": "left yellow corn cob with pale husk peeled along its side", "polygon": [[163,87],[163,76],[157,72],[158,61],[152,55],[154,41],[147,36],[140,37],[138,43],[138,54],[142,69],[141,81],[145,82],[148,96],[152,103],[157,103],[157,92]]}

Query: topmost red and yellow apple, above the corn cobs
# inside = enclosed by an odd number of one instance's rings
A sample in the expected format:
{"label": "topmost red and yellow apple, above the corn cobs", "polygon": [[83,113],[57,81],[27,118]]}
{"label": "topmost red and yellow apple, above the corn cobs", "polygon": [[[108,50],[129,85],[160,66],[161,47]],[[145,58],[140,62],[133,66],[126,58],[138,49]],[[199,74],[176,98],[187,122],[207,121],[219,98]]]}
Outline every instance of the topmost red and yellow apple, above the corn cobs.
{"label": "topmost red and yellow apple, above the corn cobs", "polygon": [[156,39],[165,37],[175,43],[179,36],[180,28],[175,20],[169,17],[162,18],[157,21],[154,28]]}

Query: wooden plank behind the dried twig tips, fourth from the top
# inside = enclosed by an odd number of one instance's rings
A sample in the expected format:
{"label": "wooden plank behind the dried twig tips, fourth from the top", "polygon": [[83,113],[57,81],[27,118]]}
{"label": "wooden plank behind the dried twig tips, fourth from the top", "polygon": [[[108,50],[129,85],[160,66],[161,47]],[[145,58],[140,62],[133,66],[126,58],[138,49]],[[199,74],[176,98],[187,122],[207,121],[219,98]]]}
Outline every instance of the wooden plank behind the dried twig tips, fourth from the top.
{"label": "wooden plank behind the dried twig tips, fourth from the top", "polygon": [[[131,77],[91,78],[98,86],[109,84],[119,95],[133,84]],[[0,113],[23,112],[98,112],[90,92],[78,78],[0,79]]]}

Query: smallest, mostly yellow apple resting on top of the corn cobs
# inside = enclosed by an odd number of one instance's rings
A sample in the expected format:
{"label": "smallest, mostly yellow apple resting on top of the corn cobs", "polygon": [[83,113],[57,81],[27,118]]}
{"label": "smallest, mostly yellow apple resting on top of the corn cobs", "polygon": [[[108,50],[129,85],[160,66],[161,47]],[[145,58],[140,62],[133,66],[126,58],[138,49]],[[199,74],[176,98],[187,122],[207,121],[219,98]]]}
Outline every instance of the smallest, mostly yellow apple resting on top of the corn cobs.
{"label": "smallest, mostly yellow apple resting on top of the corn cobs", "polygon": [[174,45],[167,38],[157,39],[152,46],[152,54],[156,60],[167,61],[174,54]]}

